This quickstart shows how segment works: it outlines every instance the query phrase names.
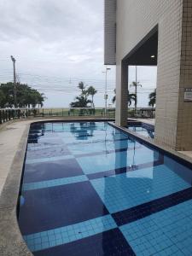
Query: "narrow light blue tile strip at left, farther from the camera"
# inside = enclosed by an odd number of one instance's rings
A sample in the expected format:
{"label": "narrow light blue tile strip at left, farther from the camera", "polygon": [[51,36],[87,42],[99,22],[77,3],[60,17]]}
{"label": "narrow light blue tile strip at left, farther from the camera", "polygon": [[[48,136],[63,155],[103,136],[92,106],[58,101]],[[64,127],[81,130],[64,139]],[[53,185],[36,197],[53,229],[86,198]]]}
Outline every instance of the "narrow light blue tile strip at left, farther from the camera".
{"label": "narrow light blue tile strip at left, farther from the camera", "polygon": [[74,176],[74,177],[62,177],[57,179],[51,179],[47,181],[37,182],[37,183],[24,183],[23,184],[23,191],[26,190],[33,190],[33,189],[45,189],[51,188],[61,185],[67,185],[70,183],[81,183],[87,181],[88,177],[85,175]]}

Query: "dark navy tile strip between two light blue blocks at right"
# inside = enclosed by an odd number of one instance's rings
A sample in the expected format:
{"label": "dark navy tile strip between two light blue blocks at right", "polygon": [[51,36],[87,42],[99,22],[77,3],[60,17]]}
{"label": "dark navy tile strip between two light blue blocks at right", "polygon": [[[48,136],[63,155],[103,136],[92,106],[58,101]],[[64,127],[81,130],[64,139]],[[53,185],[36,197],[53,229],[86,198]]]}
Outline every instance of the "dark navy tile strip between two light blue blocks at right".
{"label": "dark navy tile strip between two light blue blocks at right", "polygon": [[172,195],[167,195],[161,197],[160,199],[143,203],[137,207],[132,207],[121,212],[115,212],[112,214],[112,216],[116,224],[120,226],[136,221],[139,218],[147,217],[155,212],[160,212],[166,208],[176,206],[183,201],[188,201],[191,199],[192,188],[184,189]]}

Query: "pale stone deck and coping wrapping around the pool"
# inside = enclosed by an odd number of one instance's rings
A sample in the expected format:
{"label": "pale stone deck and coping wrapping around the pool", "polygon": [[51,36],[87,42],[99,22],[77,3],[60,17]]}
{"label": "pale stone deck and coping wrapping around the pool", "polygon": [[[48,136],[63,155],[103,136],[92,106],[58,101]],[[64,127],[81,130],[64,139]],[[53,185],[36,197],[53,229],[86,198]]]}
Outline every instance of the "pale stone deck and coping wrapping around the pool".
{"label": "pale stone deck and coping wrapping around the pool", "polygon": [[[69,121],[68,119],[27,119],[18,120],[7,125],[0,126],[0,255],[32,255],[26,247],[20,235],[17,223],[16,209],[20,191],[20,177],[23,162],[25,160],[26,142],[29,125],[35,121]],[[78,119],[76,119],[78,120]],[[81,119],[83,120],[83,119]],[[87,119],[84,119],[87,120]],[[89,119],[98,120],[98,119]],[[101,121],[106,119],[100,119]],[[143,119],[140,119],[141,121]],[[72,120],[73,121],[73,120]],[[150,125],[154,120],[147,120]],[[143,122],[147,123],[144,119]],[[114,125],[114,124],[113,124]],[[115,125],[116,126],[116,125]],[[120,127],[119,127],[120,128]],[[121,129],[121,128],[120,128]],[[123,131],[128,131],[122,128]],[[129,131],[134,137],[140,137],[144,142],[156,145],[153,140],[137,136],[135,132]],[[162,148],[162,147],[160,147]],[[166,151],[180,156],[183,160],[192,163],[192,152],[177,153],[169,148]]]}

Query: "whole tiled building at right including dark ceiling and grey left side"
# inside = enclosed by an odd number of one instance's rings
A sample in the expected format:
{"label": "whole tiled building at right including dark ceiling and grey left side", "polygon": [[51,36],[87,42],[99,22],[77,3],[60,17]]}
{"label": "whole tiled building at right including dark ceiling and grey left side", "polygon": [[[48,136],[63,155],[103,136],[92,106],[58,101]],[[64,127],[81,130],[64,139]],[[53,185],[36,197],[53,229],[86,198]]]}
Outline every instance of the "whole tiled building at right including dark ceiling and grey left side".
{"label": "whole tiled building at right including dark ceiling and grey left side", "polygon": [[128,66],[157,65],[155,141],[192,150],[192,0],[105,0],[104,58],[116,65],[116,124],[127,123]]}

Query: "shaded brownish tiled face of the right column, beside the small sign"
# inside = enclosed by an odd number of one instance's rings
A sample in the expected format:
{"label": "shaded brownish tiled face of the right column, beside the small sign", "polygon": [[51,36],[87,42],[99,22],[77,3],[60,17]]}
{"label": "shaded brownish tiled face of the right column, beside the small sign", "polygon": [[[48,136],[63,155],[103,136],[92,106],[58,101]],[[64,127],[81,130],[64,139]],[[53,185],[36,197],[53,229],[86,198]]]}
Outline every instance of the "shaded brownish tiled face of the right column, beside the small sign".
{"label": "shaded brownish tiled face of the right column, beside the small sign", "polygon": [[177,110],[177,150],[192,150],[192,102],[184,99],[184,90],[192,90],[192,2],[183,0],[180,81]]}

